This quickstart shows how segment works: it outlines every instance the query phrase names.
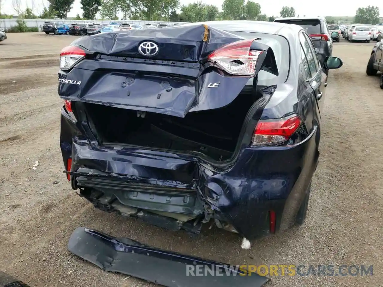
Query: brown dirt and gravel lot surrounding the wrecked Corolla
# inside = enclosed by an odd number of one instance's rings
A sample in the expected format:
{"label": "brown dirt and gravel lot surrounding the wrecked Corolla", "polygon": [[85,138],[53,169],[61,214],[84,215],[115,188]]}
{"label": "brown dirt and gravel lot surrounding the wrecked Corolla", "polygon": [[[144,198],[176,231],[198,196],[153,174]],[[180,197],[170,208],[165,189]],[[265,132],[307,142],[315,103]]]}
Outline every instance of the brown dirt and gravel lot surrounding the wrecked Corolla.
{"label": "brown dirt and gravel lot surrounding the wrecked Corolla", "polygon": [[31,286],[155,286],[72,256],[69,236],[85,226],[231,264],[373,264],[373,276],[272,277],[270,287],[383,286],[383,91],[365,73],[374,43],[334,43],[345,64],[329,73],[306,223],[242,250],[235,234],[213,227],[192,239],[96,210],[70,189],[57,70],[75,37],[8,34],[0,43],[0,270]]}

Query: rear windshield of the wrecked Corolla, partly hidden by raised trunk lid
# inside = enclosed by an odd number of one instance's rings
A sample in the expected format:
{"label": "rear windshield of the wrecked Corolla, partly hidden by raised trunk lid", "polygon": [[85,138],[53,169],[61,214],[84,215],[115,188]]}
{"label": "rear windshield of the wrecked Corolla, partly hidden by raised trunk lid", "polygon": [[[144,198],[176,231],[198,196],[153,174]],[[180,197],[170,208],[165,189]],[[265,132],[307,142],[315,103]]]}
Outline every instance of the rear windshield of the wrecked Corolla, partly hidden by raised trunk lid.
{"label": "rear windshield of the wrecked Corolla, partly hidden by raised trunk lid", "polygon": [[[285,38],[273,34],[253,33],[253,32],[236,32],[228,31],[246,39],[261,38],[257,40],[273,49],[275,60],[277,62],[279,76],[261,70],[258,73],[258,85],[271,86],[275,84],[285,83],[287,80],[288,71],[290,68],[290,48]],[[252,85],[253,79],[251,78],[246,85]]]}

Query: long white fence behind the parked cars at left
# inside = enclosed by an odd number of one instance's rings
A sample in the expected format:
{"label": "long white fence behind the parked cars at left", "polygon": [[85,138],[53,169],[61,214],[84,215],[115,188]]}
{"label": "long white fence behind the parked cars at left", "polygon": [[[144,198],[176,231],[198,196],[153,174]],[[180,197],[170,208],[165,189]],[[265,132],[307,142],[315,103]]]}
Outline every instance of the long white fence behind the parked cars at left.
{"label": "long white fence behind the parked cars at left", "polygon": [[[14,26],[17,26],[17,19],[0,19],[0,28],[8,29]],[[44,22],[56,22],[63,24],[75,24],[75,23],[129,23],[129,24],[137,24],[137,25],[145,25],[145,24],[173,24],[179,22],[166,22],[166,21],[140,21],[140,20],[116,20],[116,21],[98,21],[98,20],[61,20],[61,19],[24,19],[26,25],[28,27],[39,27],[39,31],[41,31],[41,26],[43,26]]]}

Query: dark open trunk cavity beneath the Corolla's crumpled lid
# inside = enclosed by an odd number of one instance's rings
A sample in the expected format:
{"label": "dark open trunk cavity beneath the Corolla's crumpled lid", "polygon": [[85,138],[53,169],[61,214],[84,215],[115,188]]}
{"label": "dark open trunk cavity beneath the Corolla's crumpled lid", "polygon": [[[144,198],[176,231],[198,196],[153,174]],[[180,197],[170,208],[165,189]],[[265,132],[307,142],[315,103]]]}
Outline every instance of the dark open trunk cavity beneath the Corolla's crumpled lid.
{"label": "dark open trunk cavity beneath the Corolla's crumpled lid", "polygon": [[141,117],[135,110],[91,103],[85,108],[101,144],[197,152],[223,161],[231,158],[246,114],[262,96],[262,91],[254,95],[246,86],[227,106],[190,112],[183,118],[150,112]]}

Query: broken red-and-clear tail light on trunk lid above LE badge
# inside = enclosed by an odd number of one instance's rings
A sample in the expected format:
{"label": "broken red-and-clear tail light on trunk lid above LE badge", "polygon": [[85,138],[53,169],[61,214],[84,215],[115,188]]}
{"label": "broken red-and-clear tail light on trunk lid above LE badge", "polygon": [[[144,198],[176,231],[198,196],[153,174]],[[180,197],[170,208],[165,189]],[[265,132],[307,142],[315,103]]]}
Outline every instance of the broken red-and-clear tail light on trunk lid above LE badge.
{"label": "broken red-and-clear tail light on trunk lid above LE badge", "polygon": [[219,48],[208,60],[231,75],[253,76],[257,59],[263,51],[250,50],[254,39],[237,41]]}

